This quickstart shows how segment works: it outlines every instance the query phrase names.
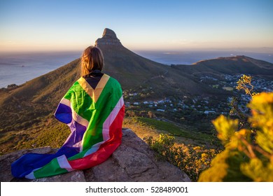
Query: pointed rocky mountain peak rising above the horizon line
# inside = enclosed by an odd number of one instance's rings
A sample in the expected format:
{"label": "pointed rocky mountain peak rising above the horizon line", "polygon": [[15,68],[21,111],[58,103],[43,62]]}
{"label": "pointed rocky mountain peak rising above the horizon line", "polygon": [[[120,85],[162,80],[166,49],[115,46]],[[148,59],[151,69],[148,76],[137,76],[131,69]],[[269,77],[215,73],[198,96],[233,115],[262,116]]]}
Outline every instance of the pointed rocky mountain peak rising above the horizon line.
{"label": "pointed rocky mountain peak rising above the horizon line", "polygon": [[122,45],[120,40],[117,38],[116,33],[111,29],[104,29],[102,38],[98,38],[95,45]]}

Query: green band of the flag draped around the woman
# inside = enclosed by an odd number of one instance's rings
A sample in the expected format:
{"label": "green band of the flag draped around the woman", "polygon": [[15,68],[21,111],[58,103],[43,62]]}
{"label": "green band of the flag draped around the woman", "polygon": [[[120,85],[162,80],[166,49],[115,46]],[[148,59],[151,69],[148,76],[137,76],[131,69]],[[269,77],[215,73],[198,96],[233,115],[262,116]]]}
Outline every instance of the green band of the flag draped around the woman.
{"label": "green band of the flag draped around the woman", "polygon": [[[72,85],[68,92],[66,92],[64,99],[68,99],[71,102],[71,109],[90,122],[82,140],[83,151],[73,155],[68,160],[83,158],[85,153],[90,150],[94,144],[103,141],[103,124],[115,108],[122,95],[120,84],[116,79],[111,77],[107,81],[99,97],[95,98],[97,99],[97,102],[92,100],[92,97],[85,92],[78,81]],[[64,174],[67,172],[66,169],[61,168],[57,158],[54,158],[47,165],[34,171],[34,176],[36,178],[41,178]]]}

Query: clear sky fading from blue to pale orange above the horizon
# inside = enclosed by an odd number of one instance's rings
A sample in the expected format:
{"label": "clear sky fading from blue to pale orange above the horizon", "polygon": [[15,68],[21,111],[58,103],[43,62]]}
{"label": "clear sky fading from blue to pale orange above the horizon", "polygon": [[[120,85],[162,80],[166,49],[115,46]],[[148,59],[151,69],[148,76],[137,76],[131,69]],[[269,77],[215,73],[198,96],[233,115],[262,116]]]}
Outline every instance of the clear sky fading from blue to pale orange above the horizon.
{"label": "clear sky fading from blue to pale orange above the horizon", "polygon": [[131,50],[273,48],[273,1],[0,0],[0,52],[83,50],[104,28]]}

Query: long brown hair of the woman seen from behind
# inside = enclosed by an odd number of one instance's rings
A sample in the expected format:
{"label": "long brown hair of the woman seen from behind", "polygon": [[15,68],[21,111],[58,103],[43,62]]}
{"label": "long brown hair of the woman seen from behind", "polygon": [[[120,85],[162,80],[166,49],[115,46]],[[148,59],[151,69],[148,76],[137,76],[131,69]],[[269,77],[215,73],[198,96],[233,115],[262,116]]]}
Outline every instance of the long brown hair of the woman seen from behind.
{"label": "long brown hair of the woman seen from behind", "polygon": [[102,50],[96,46],[89,46],[83,51],[80,62],[80,76],[86,76],[96,69],[102,71],[103,67],[104,55],[102,55]]}

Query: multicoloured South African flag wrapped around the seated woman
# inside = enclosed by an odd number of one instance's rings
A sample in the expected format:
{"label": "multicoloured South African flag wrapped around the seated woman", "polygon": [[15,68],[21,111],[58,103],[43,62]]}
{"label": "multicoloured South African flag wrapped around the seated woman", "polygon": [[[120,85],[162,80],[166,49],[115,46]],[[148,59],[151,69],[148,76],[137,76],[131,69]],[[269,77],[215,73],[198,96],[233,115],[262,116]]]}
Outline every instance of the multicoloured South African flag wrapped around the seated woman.
{"label": "multicoloured South African flag wrapped around the seated woman", "polygon": [[79,78],[55,112],[71,130],[62,148],[55,154],[23,155],[11,165],[13,176],[38,179],[99,165],[120,146],[124,113],[117,80],[101,72]]}

